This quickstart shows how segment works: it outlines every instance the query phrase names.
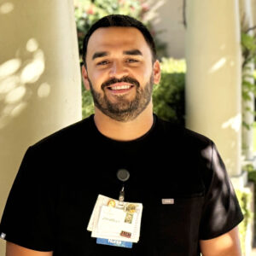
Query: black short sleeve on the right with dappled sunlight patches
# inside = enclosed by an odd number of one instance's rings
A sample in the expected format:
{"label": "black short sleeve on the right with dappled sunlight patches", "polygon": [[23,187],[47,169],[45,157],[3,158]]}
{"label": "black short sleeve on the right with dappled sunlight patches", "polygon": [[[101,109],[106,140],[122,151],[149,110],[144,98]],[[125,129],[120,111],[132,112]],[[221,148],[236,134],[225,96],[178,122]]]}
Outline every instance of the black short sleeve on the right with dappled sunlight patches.
{"label": "black short sleeve on the right with dappled sunlight patches", "polygon": [[212,180],[202,212],[201,240],[221,236],[235,228],[243,219],[235,190],[214,143],[211,150]]}

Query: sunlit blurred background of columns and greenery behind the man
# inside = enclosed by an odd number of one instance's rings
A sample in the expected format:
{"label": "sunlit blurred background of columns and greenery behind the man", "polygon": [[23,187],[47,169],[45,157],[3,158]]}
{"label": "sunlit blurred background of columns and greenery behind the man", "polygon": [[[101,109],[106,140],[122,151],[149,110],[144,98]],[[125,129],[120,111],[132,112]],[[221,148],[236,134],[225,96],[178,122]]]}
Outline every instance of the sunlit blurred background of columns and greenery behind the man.
{"label": "sunlit blurred background of columns and greenery behind the man", "polygon": [[93,113],[82,42],[110,14],[148,26],[154,113],[217,144],[245,216],[242,253],[256,255],[256,0],[0,0],[0,216],[26,148]]}

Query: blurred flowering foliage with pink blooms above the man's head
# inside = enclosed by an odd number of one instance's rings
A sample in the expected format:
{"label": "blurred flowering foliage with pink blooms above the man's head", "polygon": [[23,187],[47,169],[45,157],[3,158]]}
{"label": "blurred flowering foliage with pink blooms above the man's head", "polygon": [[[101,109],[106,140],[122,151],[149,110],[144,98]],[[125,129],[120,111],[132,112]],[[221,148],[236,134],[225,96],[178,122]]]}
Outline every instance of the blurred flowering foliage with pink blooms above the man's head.
{"label": "blurred flowering foliage with pink blooms above the man's head", "polygon": [[[154,3],[156,4],[156,3]],[[166,44],[158,38],[151,19],[155,8],[148,5],[148,0],[74,0],[75,20],[79,39],[79,54],[82,61],[82,48],[84,35],[90,26],[106,15],[130,15],[140,20],[154,36],[158,56],[166,55]]]}

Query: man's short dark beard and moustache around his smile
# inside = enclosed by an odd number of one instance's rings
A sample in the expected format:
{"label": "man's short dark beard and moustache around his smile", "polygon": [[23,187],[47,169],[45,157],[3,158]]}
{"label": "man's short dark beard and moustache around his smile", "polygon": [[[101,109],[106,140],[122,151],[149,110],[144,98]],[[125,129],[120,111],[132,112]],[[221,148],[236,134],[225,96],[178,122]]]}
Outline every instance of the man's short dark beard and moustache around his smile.
{"label": "man's short dark beard and moustache around his smile", "polygon": [[[142,113],[145,108],[148,107],[148,104],[152,97],[154,85],[153,73],[150,77],[150,80],[145,85],[144,89],[141,88],[137,80],[131,79],[129,77],[125,77],[123,79],[110,79],[107,82],[103,83],[101,86],[103,96],[102,93],[94,90],[90,79],[88,80],[90,84],[90,91],[96,108],[101,110],[102,113],[108,115],[108,117],[110,117],[111,119],[117,120],[119,122],[128,122],[136,119],[137,116]],[[108,97],[104,92],[104,88],[111,84],[119,82],[128,82],[136,86],[136,96],[133,100],[129,101],[125,99],[125,96],[117,96],[119,98],[119,101],[115,103],[108,100]]]}

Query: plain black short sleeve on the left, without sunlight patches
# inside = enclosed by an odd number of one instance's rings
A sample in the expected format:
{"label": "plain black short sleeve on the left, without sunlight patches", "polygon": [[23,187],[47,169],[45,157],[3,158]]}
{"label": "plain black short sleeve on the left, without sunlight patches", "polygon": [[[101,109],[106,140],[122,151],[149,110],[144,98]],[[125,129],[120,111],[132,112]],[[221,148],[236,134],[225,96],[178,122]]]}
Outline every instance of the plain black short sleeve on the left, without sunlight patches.
{"label": "plain black short sleeve on the left, without sunlight patches", "polygon": [[0,224],[6,241],[38,251],[53,250],[53,198],[43,157],[28,148],[9,193]]}

